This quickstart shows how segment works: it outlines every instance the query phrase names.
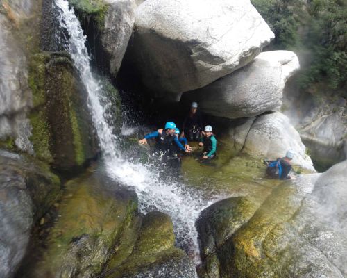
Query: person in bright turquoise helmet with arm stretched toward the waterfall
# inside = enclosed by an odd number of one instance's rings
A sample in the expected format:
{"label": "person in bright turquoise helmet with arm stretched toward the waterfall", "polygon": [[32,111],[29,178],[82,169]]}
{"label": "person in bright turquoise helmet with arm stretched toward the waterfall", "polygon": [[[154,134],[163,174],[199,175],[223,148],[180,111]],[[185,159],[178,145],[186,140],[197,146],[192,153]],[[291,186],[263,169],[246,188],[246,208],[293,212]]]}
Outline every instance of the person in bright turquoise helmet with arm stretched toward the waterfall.
{"label": "person in bright turquoise helmet with arm stretched toward the waterfall", "polygon": [[165,124],[165,129],[161,132],[159,131],[154,131],[152,133],[146,134],[146,136],[144,136],[142,140],[139,140],[139,144],[147,145],[147,139],[155,138],[155,149],[161,154],[171,156],[173,143],[175,143],[179,149],[182,149],[183,152],[190,152],[190,150],[183,147],[177,136],[175,136],[176,124],[174,122],[167,122]]}

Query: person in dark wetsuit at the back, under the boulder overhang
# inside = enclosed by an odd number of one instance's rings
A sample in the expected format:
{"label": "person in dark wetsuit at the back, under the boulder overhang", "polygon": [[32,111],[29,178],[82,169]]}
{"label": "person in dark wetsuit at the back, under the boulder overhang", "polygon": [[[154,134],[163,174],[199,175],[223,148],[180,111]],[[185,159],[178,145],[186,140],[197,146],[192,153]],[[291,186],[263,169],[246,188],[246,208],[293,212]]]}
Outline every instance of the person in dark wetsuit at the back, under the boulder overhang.
{"label": "person in dark wetsuit at the back, under the boulder overhang", "polygon": [[203,120],[197,111],[198,104],[196,102],[192,102],[189,115],[185,117],[183,122],[183,132],[180,137],[186,136],[189,141],[199,140],[201,133],[203,133]]}

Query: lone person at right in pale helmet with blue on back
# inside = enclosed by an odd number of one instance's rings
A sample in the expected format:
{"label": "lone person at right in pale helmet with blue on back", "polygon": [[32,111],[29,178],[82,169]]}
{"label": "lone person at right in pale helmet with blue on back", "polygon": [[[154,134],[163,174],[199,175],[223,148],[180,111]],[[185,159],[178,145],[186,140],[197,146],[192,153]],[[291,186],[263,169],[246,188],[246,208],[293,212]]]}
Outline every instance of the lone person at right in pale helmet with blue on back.
{"label": "lone person at right in pale helmet with blue on back", "polygon": [[277,158],[276,161],[265,161],[267,164],[266,174],[273,179],[291,179],[290,161],[294,158],[294,152],[288,151],[285,157]]}

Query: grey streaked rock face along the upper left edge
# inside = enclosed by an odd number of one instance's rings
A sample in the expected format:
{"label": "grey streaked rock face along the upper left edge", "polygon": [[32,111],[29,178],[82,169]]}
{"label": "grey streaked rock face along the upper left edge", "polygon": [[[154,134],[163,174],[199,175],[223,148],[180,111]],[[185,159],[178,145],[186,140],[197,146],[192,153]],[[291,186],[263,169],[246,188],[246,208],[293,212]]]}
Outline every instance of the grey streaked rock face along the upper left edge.
{"label": "grey streaked rock face along the upper left edge", "polygon": [[25,45],[19,40],[19,24],[33,16],[33,1],[0,2],[0,139],[16,138],[20,149],[32,151],[28,136],[30,125],[25,117],[31,106],[27,81]]}

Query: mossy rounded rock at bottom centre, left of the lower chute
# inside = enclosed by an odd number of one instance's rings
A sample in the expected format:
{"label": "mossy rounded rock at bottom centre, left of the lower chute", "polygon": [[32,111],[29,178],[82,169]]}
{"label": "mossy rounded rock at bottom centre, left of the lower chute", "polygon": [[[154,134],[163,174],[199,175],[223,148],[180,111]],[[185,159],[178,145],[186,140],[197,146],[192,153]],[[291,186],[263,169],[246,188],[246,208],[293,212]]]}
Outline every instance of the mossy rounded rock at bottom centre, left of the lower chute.
{"label": "mossy rounded rock at bottom centre, left of the lower chute", "polygon": [[174,241],[169,216],[148,213],[130,256],[122,263],[112,258],[105,277],[197,277],[192,261],[183,250],[174,247]]}

